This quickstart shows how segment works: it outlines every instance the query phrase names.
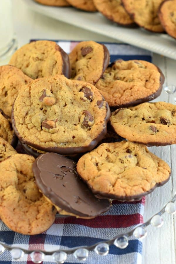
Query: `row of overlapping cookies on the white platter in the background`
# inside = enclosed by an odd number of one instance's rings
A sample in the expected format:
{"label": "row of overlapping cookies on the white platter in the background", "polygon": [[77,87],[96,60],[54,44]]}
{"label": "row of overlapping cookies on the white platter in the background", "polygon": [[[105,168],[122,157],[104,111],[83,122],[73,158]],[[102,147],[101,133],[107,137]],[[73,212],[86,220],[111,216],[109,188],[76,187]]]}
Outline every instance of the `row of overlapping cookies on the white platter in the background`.
{"label": "row of overlapping cookies on the white platter in the background", "polygon": [[34,0],[48,6],[73,6],[89,12],[99,11],[120,26],[142,27],[150,32],[166,32],[176,38],[176,0]]}

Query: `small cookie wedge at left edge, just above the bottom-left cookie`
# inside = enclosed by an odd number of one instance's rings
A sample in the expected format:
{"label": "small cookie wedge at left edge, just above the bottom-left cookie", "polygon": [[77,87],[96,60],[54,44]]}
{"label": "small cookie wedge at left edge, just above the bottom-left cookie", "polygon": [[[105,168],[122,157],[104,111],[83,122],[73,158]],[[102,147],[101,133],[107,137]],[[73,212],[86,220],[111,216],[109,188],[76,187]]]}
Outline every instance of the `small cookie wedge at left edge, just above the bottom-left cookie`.
{"label": "small cookie wedge at left edge, just above the bottom-left cookie", "polygon": [[0,162],[17,154],[16,150],[3,138],[0,137]]}

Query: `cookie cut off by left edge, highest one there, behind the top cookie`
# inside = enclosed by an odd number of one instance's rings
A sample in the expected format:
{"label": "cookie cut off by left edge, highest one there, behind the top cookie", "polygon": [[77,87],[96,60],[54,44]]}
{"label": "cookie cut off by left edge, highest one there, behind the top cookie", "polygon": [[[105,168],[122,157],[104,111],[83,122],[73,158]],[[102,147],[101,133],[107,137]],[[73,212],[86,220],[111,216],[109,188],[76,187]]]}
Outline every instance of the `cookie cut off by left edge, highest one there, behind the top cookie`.
{"label": "cookie cut off by left edge, highest one there, behind the top cookie", "polygon": [[14,66],[0,66],[0,108],[8,116],[11,116],[12,104],[18,92],[32,80]]}

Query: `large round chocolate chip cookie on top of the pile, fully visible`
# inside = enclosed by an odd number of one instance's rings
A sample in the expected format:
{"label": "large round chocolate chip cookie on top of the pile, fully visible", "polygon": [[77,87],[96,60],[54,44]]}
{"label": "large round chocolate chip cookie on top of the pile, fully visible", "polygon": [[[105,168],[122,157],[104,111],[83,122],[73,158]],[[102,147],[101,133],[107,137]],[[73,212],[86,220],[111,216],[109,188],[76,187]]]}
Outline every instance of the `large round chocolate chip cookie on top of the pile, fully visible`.
{"label": "large round chocolate chip cookie on top of the pile, fully visible", "polygon": [[96,87],[63,75],[27,84],[12,107],[21,142],[64,155],[92,150],[106,134],[109,118],[109,105]]}

